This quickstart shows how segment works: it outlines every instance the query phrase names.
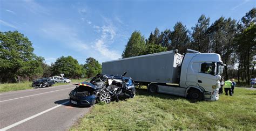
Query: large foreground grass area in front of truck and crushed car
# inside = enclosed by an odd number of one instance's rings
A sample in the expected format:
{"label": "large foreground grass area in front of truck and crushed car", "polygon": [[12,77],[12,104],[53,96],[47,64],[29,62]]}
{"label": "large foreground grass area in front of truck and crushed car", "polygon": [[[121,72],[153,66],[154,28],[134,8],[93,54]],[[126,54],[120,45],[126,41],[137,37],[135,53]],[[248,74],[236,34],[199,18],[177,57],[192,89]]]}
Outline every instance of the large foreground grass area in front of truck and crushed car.
{"label": "large foreground grass area in front of truck and crushed car", "polygon": [[190,103],[168,94],[138,95],[126,101],[96,104],[70,130],[134,129],[231,129],[256,128],[256,91],[236,88],[234,96],[221,95],[218,101]]}

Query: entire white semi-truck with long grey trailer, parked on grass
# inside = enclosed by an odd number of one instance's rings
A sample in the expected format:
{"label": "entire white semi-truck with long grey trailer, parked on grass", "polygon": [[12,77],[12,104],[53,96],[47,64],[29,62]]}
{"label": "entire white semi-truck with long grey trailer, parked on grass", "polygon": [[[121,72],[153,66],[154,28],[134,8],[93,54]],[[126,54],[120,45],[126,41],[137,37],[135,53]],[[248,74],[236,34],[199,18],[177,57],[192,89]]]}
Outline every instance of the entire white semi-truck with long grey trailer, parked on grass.
{"label": "entire white semi-truck with long grey trailer, parked on grass", "polygon": [[102,73],[119,75],[127,72],[138,86],[146,85],[152,93],[167,93],[194,101],[219,99],[221,74],[225,64],[219,54],[187,49],[102,63]]}

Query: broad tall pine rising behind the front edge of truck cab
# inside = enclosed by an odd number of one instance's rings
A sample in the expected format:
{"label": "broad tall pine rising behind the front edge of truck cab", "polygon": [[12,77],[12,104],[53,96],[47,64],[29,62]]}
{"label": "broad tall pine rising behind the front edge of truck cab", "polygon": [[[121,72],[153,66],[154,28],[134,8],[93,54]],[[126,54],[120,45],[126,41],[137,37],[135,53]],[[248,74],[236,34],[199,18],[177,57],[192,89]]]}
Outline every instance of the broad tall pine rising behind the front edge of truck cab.
{"label": "broad tall pine rising behind the front edge of truck cab", "polygon": [[224,70],[225,79],[228,78],[227,69],[233,64],[231,57],[234,57],[234,38],[237,32],[236,20],[220,17],[209,27],[210,45],[214,53],[220,54],[223,62],[227,64]]}

